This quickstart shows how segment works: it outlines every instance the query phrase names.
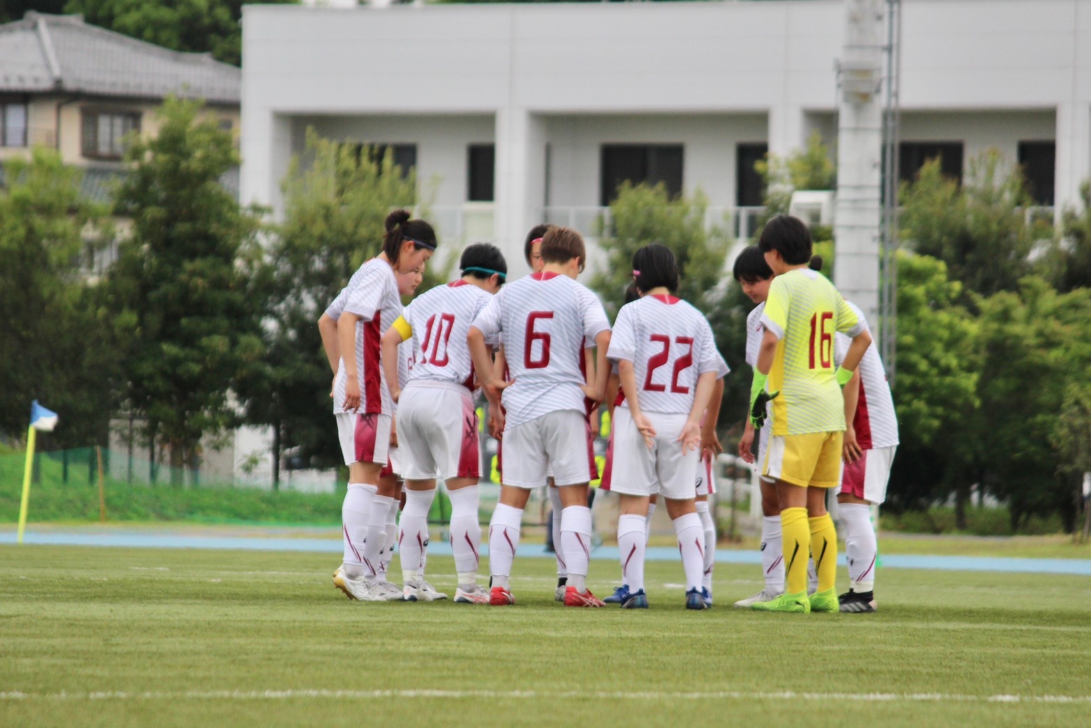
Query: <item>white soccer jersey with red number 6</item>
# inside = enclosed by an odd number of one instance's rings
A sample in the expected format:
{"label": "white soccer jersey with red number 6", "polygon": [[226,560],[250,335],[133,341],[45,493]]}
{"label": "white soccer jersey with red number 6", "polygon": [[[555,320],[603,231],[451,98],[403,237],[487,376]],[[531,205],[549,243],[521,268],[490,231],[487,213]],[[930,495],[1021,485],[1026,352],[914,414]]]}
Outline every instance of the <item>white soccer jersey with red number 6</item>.
{"label": "white soccer jersey with red number 6", "polygon": [[586,414],[584,341],[610,322],[586,286],[556,273],[535,273],[496,294],[473,322],[485,341],[503,333],[511,381],[504,390],[506,427],[561,409]]}

